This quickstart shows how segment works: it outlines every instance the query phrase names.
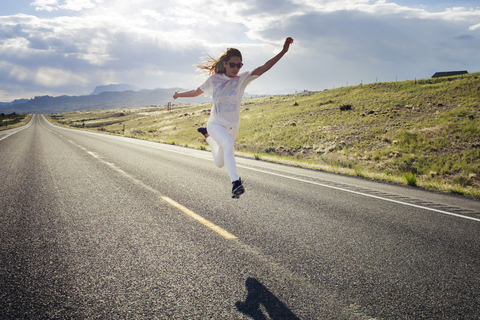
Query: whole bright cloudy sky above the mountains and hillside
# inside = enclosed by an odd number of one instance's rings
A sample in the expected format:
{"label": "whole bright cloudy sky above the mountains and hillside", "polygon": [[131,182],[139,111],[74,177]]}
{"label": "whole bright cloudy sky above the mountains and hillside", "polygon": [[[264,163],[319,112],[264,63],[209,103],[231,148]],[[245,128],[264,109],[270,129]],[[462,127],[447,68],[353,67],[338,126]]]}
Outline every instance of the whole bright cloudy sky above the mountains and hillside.
{"label": "whole bright cloudy sky above the mountains and hillside", "polygon": [[229,47],[256,94],[480,71],[478,0],[2,0],[0,101],[96,86],[194,89],[195,64]]}

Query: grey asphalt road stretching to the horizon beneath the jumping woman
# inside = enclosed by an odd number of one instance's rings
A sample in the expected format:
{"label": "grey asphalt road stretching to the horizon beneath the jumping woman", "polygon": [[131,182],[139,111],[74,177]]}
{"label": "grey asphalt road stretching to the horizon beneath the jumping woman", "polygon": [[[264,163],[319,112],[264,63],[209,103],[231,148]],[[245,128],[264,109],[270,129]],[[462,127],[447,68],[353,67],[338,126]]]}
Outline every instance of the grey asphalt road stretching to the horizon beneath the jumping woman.
{"label": "grey asphalt road stretching to the horizon beneath the jumping woman", "polygon": [[[192,128],[194,130],[194,128]],[[0,318],[479,319],[480,201],[60,128],[0,133]]]}

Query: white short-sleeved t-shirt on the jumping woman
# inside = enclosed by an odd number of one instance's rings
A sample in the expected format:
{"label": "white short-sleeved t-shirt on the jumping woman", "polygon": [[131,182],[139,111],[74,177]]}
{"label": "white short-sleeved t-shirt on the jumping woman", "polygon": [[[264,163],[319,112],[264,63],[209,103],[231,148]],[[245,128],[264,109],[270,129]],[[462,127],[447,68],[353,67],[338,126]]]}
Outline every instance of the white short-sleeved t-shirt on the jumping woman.
{"label": "white short-sleeved t-shirt on the jumping woman", "polygon": [[253,71],[243,72],[234,78],[229,78],[224,73],[216,73],[199,87],[205,96],[213,97],[210,122],[224,126],[238,126],[245,88],[259,77],[252,73]]}

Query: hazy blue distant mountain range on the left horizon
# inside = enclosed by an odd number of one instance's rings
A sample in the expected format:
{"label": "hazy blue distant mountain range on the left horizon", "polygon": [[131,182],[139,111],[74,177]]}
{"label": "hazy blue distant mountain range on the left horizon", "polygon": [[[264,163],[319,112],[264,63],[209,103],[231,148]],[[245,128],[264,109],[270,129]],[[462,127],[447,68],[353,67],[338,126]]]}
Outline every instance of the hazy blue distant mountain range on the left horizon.
{"label": "hazy blue distant mountain range on the left horizon", "polygon": [[198,103],[211,101],[204,95],[196,98],[174,100],[175,91],[185,91],[181,88],[141,90],[138,92],[129,90],[122,92],[101,92],[98,95],[88,96],[42,96],[26,100],[24,103],[1,106],[0,113],[33,113],[50,114],[63,113],[78,110],[97,110],[142,107],[151,105],[166,105],[172,103]]}

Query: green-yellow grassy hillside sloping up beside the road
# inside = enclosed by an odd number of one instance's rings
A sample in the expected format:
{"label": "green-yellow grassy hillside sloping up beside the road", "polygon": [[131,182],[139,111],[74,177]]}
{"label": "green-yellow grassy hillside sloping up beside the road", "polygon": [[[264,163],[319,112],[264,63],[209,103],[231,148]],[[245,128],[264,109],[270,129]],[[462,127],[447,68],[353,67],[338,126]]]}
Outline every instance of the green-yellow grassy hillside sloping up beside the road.
{"label": "green-yellow grassy hillside sloping up beside the road", "polygon": [[[244,99],[237,154],[480,197],[480,73]],[[210,103],[79,111],[57,123],[208,149]]]}

